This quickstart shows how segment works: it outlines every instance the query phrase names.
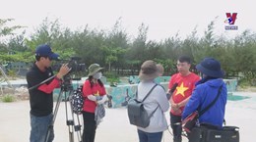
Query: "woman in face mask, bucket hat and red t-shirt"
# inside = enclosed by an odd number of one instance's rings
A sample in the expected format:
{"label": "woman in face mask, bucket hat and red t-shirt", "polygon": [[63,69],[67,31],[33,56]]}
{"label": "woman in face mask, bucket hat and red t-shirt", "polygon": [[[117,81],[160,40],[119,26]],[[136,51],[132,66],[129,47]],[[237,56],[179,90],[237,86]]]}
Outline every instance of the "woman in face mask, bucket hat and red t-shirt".
{"label": "woman in face mask, bucket hat and red t-shirt", "polygon": [[95,141],[97,125],[96,107],[102,105],[107,100],[104,85],[100,81],[102,69],[98,64],[92,64],[89,67],[89,77],[83,86],[83,95],[85,97],[83,108],[83,142]]}

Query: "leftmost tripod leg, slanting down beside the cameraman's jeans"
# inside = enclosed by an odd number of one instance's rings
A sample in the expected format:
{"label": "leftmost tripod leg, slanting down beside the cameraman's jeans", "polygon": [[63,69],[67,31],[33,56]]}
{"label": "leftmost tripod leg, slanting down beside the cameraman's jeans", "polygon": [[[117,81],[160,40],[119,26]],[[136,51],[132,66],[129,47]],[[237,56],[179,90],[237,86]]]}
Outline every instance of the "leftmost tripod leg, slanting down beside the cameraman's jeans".
{"label": "leftmost tripod leg, slanting down beside the cameraman's jeans", "polygon": [[46,133],[44,142],[48,142],[49,136],[53,132],[53,125],[54,125],[55,118],[56,118],[57,113],[58,113],[58,109],[59,109],[59,105],[60,105],[60,101],[61,101],[61,97],[62,97],[62,95],[61,95],[62,92],[63,91],[60,90],[59,96],[58,96],[58,99],[57,99],[57,103],[56,103],[56,106],[55,106],[55,110],[54,110],[54,113],[53,113],[53,118],[52,118],[50,124],[48,125],[48,129],[47,129],[47,133]]}

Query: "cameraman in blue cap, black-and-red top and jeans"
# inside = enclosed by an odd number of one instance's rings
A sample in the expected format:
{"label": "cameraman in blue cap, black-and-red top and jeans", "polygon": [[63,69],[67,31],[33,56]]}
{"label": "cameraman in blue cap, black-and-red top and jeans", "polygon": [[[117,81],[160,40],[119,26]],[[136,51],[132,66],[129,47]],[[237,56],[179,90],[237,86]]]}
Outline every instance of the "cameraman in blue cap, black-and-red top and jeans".
{"label": "cameraman in blue cap, black-and-red top and jeans", "polygon": [[[32,129],[30,142],[44,142],[48,125],[53,118],[52,92],[54,88],[60,86],[62,76],[70,71],[67,64],[64,64],[59,72],[55,76],[53,75],[53,71],[50,68],[51,61],[57,60],[58,57],[59,55],[53,53],[49,45],[38,45],[35,50],[36,61],[27,73],[31,104]],[[53,138],[54,132],[52,128],[48,142],[52,142]]]}

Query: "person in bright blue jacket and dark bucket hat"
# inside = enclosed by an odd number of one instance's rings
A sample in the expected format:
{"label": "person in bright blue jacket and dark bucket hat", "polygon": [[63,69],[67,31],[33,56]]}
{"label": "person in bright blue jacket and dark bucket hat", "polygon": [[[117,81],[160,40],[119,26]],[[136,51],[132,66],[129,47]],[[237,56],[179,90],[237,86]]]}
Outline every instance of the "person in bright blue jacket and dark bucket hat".
{"label": "person in bright blue jacket and dark bucket hat", "polygon": [[216,103],[199,118],[199,125],[211,125],[222,129],[227,90],[223,80],[224,71],[221,69],[221,64],[214,58],[205,58],[196,66],[196,69],[203,74],[203,77],[196,83],[191,98],[185,106],[182,119],[198,110],[200,106],[199,112],[211,104],[218,95],[219,88],[223,86]]}

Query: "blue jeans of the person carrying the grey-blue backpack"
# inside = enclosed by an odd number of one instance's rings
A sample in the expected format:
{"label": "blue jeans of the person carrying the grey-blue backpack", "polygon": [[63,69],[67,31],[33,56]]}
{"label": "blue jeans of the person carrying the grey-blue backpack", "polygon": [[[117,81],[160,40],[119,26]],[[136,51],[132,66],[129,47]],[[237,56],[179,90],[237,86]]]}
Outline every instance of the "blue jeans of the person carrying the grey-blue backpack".
{"label": "blue jeans of the person carrying the grey-blue backpack", "polygon": [[162,137],[162,131],[160,132],[144,132],[138,129],[140,142],[160,142]]}

